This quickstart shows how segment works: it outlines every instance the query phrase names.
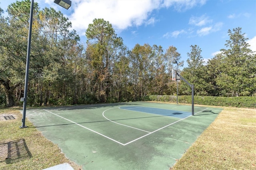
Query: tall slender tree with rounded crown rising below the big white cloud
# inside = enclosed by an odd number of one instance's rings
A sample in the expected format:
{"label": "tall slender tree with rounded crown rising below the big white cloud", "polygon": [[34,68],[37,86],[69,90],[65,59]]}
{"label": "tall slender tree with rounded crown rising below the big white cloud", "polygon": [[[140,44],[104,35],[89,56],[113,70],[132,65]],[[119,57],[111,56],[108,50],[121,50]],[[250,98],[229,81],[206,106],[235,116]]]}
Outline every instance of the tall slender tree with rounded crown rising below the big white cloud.
{"label": "tall slender tree with rounded crown rising below the big white cloud", "polygon": [[94,81],[93,91],[100,102],[109,98],[113,86],[111,79],[114,61],[122,47],[122,38],[118,38],[112,25],[103,19],[94,19],[86,30],[87,57],[90,59]]}

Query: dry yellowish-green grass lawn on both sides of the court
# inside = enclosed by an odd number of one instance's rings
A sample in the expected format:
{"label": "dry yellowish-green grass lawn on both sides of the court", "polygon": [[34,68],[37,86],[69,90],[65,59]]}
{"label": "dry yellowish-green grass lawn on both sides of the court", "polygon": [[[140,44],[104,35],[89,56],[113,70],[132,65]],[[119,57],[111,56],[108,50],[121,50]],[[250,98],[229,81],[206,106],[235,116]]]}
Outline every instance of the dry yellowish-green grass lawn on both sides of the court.
{"label": "dry yellowish-green grass lawn on both sides of the court", "polygon": [[[40,170],[62,163],[69,163],[74,170],[81,169],[28,120],[28,128],[19,128],[22,124],[19,109],[22,108],[0,109],[1,170]],[[170,170],[206,169],[256,170],[256,109],[224,107],[170,167]]]}

